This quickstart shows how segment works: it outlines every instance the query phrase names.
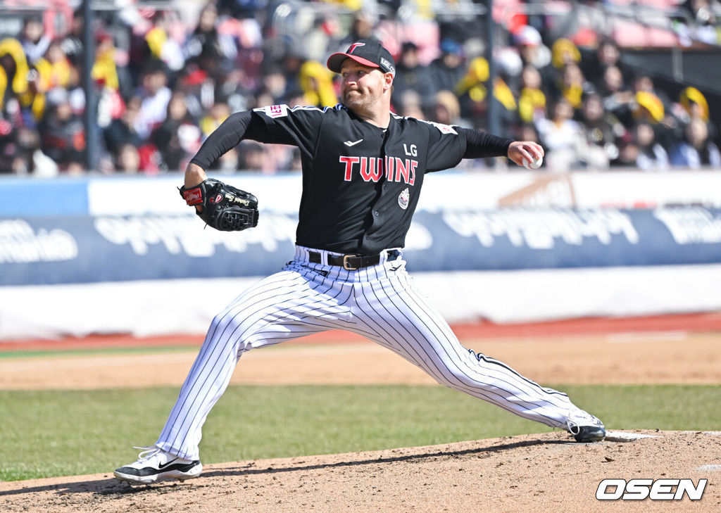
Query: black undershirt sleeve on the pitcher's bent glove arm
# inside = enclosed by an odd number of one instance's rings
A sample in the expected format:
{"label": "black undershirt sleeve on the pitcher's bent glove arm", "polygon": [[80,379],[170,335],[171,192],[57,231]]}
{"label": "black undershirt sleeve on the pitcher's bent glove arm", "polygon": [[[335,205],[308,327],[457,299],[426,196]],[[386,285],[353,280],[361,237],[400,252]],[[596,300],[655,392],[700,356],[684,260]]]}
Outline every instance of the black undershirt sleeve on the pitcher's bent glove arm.
{"label": "black undershirt sleeve on the pitcher's bent glove arm", "polygon": [[249,110],[236,112],[231,114],[211,135],[208,135],[203,146],[200,146],[200,150],[190,161],[203,169],[208,169],[226,152],[238,146],[241,140],[272,142],[267,138],[267,128],[262,120],[253,116]]}

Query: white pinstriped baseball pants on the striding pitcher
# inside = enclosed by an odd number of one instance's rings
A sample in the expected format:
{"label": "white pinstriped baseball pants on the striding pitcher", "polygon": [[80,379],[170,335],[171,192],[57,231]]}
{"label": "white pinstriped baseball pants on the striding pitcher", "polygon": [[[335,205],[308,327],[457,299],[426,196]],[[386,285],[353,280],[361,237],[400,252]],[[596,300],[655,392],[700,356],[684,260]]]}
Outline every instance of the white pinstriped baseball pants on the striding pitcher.
{"label": "white pinstriped baseball pants on the striding pitcher", "polygon": [[329,329],[366,336],[442,385],[565,429],[568,396],[462,347],[416,289],[401,251],[386,250],[378,265],[356,271],[327,265],[327,251],[312,250],[322,254],[322,263],[310,263],[308,251],[296,246],[296,258],[281,272],[250,287],[213,318],[157,447],[197,460],[205,417],[245,351]]}

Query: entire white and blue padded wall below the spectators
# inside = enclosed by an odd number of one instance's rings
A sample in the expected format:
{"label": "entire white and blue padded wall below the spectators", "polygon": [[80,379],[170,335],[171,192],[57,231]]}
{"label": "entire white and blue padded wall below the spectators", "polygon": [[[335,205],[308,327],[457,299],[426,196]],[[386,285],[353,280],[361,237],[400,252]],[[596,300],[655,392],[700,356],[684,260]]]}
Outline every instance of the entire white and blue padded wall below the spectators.
{"label": "entire white and blue padded wall below the spectators", "polygon": [[[222,178],[257,228],[204,230],[177,174],[3,179],[0,340],[205,331],[291,258],[300,197]],[[452,323],[721,311],[721,172],[431,174],[404,254]]]}

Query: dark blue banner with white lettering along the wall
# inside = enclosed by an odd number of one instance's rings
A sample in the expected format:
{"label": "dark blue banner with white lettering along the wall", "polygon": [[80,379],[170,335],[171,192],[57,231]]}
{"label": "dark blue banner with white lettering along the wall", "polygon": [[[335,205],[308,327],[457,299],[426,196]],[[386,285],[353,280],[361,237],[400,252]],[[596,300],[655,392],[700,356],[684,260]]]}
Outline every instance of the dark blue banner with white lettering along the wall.
{"label": "dark blue banner with white lettering along the wall", "polygon": [[[0,218],[0,286],[269,275],[293,256],[297,218],[203,229],[190,215]],[[411,272],[721,262],[721,209],[504,208],[418,212]]]}

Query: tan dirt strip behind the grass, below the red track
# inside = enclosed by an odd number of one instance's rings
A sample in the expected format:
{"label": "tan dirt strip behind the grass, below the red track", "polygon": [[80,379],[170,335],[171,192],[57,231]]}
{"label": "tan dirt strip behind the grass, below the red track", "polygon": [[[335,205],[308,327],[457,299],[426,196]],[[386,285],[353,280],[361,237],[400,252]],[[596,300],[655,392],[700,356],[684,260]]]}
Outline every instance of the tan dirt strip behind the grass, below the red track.
{"label": "tan dirt strip behind the grass, below the red track", "polygon": [[[396,354],[363,339],[287,342],[244,354],[231,383],[432,384]],[[53,355],[0,360],[0,388],[111,388],[180,385],[195,346],[180,352]],[[680,331],[464,339],[466,347],[539,383],[721,383],[721,334]]]}

